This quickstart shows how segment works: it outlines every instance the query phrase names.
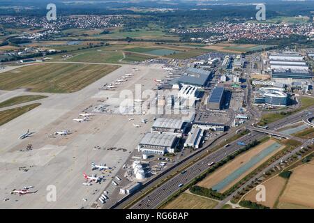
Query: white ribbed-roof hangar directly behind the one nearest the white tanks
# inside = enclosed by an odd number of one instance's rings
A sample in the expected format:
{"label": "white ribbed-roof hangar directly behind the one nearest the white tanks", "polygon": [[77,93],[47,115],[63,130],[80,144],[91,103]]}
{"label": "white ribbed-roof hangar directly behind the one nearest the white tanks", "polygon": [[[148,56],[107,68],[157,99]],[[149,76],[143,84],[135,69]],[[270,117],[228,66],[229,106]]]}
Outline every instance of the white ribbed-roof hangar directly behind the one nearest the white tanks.
{"label": "white ribbed-roof hangar directly behind the one nearest the white tanks", "polygon": [[181,137],[186,130],[186,123],[180,118],[157,118],[151,127],[151,133],[172,134]]}

